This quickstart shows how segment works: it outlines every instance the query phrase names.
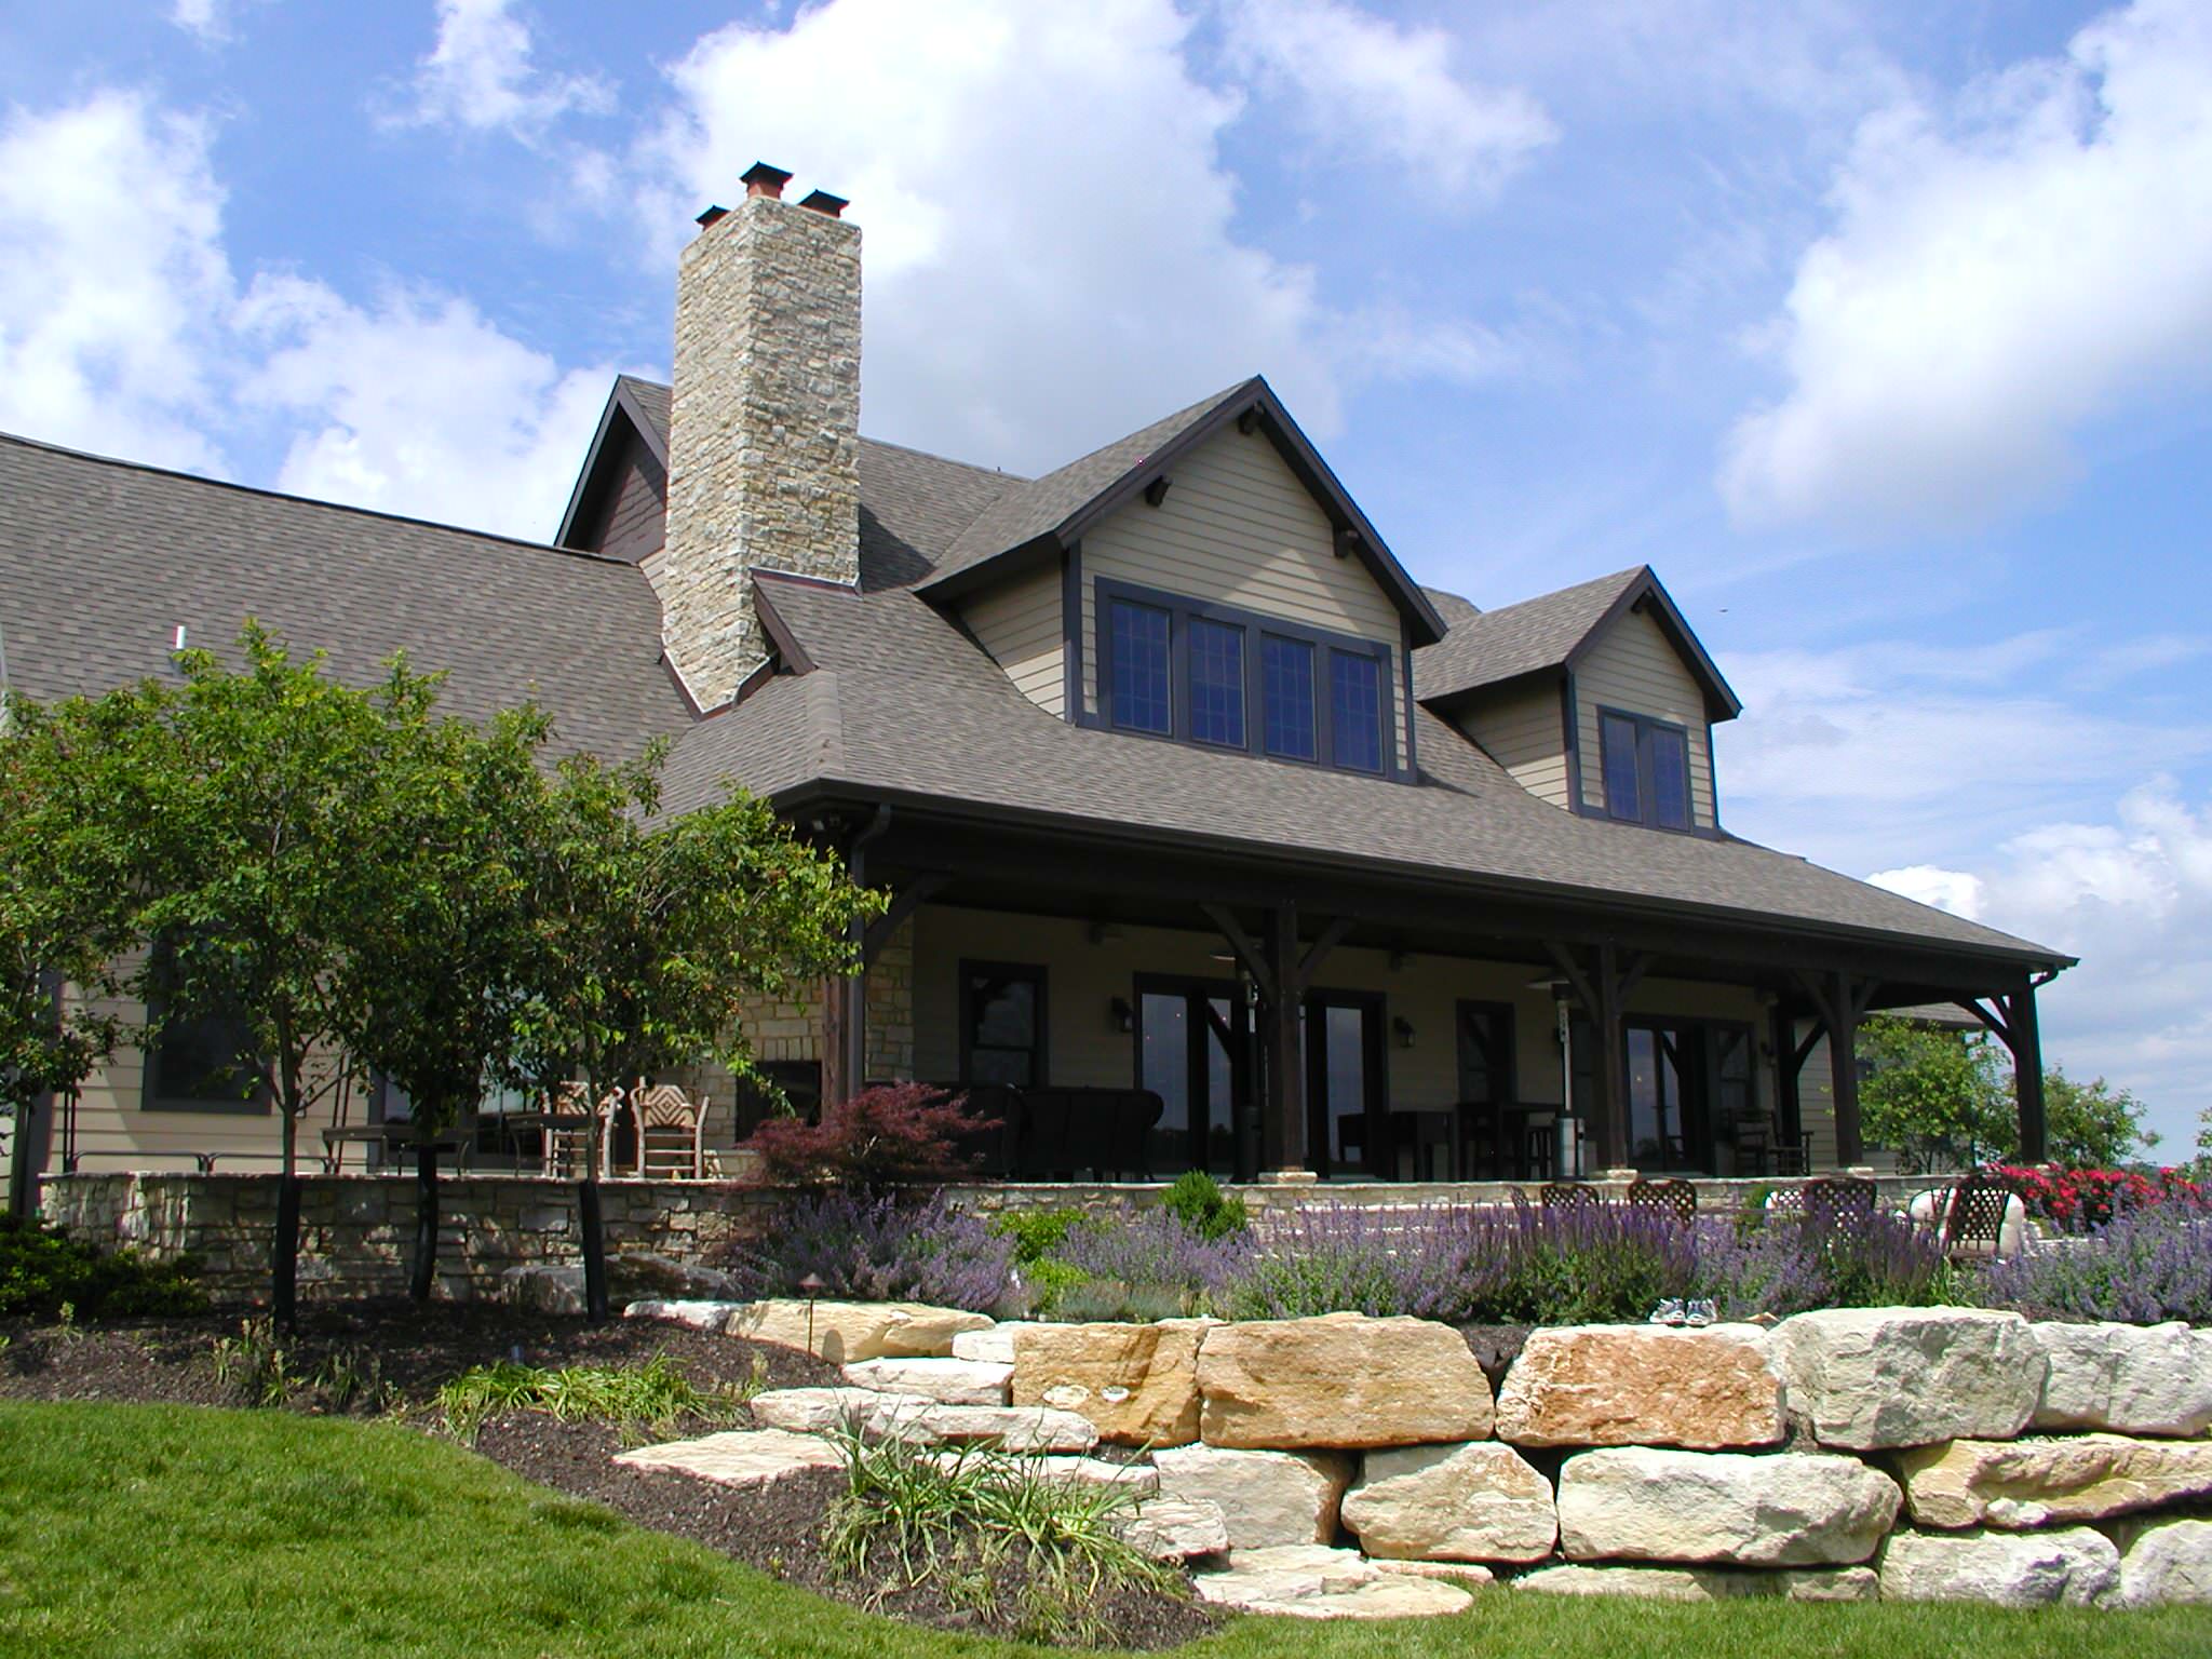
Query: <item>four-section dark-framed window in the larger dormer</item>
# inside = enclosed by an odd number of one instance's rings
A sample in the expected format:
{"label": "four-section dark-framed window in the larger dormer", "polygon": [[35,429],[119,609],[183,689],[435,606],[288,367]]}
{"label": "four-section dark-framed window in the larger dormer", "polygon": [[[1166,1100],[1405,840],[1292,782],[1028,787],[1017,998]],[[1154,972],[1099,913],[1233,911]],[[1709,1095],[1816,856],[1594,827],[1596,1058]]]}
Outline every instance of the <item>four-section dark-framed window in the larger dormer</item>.
{"label": "four-section dark-framed window in the larger dormer", "polygon": [[1396,776],[1396,653],[1099,582],[1099,708],[1121,732]]}

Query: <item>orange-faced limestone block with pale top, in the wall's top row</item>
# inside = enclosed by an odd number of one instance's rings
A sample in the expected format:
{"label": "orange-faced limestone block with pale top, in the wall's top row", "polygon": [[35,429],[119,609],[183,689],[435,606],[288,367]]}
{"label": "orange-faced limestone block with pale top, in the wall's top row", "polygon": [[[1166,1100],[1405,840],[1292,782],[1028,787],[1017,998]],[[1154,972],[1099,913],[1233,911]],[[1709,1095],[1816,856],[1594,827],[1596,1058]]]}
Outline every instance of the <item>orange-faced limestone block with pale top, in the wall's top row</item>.
{"label": "orange-faced limestone block with pale top, in the wall's top row", "polygon": [[1783,1380],[1759,1325],[1566,1325],[1528,1338],[1498,1389],[1522,1447],[1774,1447]]}

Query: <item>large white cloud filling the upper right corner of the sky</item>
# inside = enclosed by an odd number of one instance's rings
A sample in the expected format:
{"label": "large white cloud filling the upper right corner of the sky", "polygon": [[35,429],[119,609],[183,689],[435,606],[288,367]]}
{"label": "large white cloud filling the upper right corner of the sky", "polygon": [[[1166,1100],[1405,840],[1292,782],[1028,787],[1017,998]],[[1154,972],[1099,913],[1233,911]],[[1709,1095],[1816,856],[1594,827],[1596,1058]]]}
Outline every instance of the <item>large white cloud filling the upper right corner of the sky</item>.
{"label": "large white cloud filling the upper right corner of the sky", "polygon": [[1743,522],[1982,522],[2075,438],[2212,369],[2212,11],[2139,0],[2059,60],[1869,117],[1728,440]]}

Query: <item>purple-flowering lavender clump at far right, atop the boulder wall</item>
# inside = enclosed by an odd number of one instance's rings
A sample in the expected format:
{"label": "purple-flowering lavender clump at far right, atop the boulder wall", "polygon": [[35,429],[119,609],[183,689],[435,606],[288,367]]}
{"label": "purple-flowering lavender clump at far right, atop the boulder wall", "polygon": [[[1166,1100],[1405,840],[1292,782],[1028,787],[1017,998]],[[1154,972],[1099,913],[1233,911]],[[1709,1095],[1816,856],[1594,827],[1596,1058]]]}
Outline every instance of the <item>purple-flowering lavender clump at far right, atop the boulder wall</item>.
{"label": "purple-flowering lavender clump at far right, atop the boulder wall", "polygon": [[2212,1325],[2212,1214],[2185,1203],[2126,1210],[2086,1237],[1991,1263],[1975,1298],[2028,1318]]}

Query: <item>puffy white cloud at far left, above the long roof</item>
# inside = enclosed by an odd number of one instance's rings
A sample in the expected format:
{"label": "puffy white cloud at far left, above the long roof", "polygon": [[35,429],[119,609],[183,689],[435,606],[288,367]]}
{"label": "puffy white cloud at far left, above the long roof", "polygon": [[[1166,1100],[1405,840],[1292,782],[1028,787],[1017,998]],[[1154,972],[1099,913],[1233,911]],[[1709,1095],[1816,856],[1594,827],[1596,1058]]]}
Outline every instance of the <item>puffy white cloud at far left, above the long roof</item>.
{"label": "puffy white cloud at far left, above the long roof", "polygon": [[128,91],[0,122],[0,429],[210,473],[274,436],[283,489],[549,535],[613,365],[440,294],[241,296],[208,144]]}

